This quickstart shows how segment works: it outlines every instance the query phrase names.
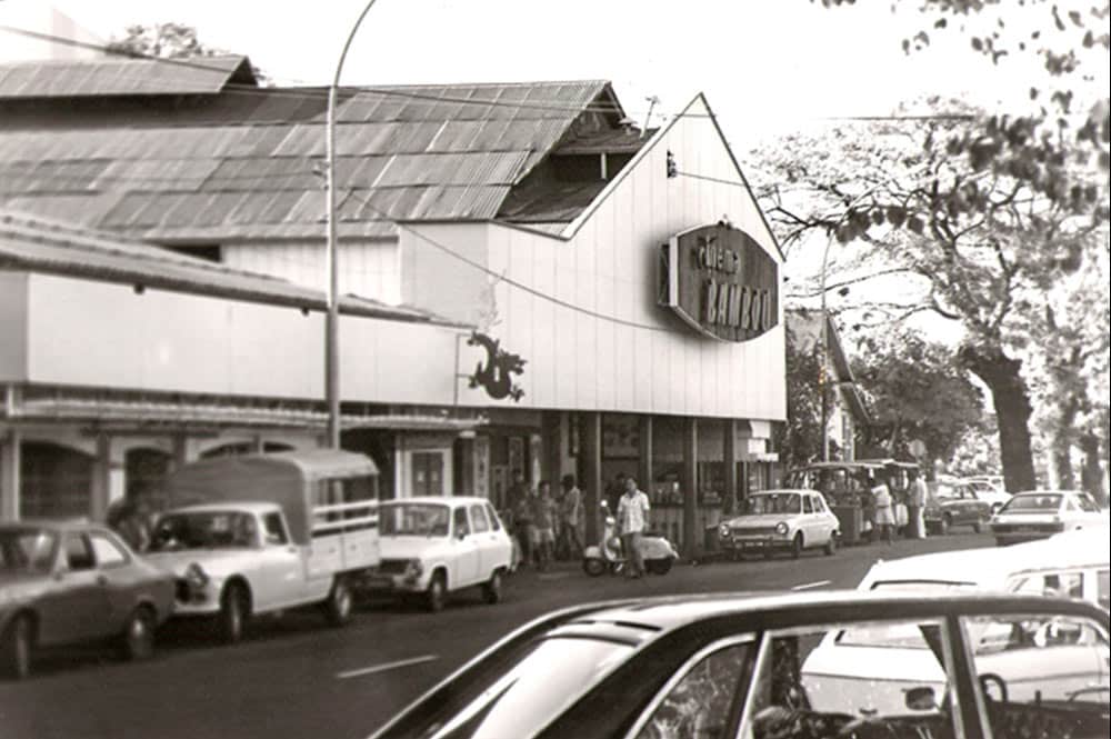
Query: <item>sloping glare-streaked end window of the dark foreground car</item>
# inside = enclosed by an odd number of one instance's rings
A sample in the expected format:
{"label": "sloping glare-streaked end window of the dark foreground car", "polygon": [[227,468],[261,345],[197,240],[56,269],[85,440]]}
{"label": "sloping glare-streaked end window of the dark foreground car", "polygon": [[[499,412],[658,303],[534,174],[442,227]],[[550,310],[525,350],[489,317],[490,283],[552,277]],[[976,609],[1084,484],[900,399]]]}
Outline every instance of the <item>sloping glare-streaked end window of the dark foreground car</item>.
{"label": "sloping glare-streaked end window of the dark foreground car", "polygon": [[383,739],[531,737],[632,650],[600,639],[534,641],[523,656],[507,660],[503,669],[483,671],[477,685],[457,686],[448,700],[386,732]]}

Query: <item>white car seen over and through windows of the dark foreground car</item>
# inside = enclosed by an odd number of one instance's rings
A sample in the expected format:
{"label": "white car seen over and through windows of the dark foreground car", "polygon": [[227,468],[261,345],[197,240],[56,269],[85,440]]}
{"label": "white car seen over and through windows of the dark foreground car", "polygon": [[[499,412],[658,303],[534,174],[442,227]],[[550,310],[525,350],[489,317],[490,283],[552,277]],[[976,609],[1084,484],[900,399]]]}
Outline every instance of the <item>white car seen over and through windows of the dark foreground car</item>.
{"label": "white car seen over and through windows of the dark foreground car", "polygon": [[[1075,598],[1108,607],[1111,546],[1108,529],[1072,531],[1008,549],[985,548],[920,555],[880,561],[859,590],[985,590]],[[1108,686],[1108,642],[1073,623],[1031,619],[1000,623],[984,619],[970,625],[977,670],[985,688],[1003,685],[1010,700],[1034,701],[1070,696]],[[862,711],[905,712],[899,690],[882,687],[929,686],[945,690],[945,677],[917,628],[858,628],[830,632],[810,652],[802,681],[818,710],[855,696]],[[1102,681],[1089,685],[1075,666],[1089,662]],[[998,697],[997,697],[998,698]]]}

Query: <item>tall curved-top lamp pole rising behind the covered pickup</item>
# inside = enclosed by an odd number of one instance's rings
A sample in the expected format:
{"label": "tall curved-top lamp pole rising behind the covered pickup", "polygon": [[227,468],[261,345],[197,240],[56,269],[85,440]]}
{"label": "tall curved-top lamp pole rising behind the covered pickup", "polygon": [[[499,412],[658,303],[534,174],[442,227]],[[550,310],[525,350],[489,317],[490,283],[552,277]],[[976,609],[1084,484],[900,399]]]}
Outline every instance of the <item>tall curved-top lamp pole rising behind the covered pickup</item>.
{"label": "tall curved-top lamp pole rising behind the covered pickup", "polygon": [[328,88],[328,122],[326,133],[326,158],[327,163],[327,190],[328,190],[328,247],[326,251],[326,267],[328,269],[328,317],[324,320],[324,397],[328,401],[328,446],[332,449],[340,448],[340,296],[339,296],[339,268],[337,260],[336,239],[336,98],[339,96],[340,74],[343,72],[343,62],[347,60],[347,52],[351,48],[354,34],[362,26],[362,19],[367,17],[377,0],[370,0],[367,7],[359,13],[359,19],[351,27],[343,50],[340,52],[339,61],[336,63],[336,76],[332,84]]}

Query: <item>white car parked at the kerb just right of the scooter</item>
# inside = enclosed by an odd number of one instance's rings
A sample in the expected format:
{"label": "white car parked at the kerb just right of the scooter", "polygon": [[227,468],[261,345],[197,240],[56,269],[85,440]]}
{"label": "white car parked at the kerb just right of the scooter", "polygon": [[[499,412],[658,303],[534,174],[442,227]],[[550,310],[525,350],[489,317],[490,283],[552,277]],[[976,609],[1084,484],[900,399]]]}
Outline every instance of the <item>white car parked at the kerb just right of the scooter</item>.
{"label": "white car parked at the kerb just right of the scooter", "polygon": [[734,557],[759,551],[770,557],[789,551],[798,559],[803,550],[837,551],[839,523],[822,493],[815,490],[768,490],[744,500],[740,516],[722,521],[718,542]]}

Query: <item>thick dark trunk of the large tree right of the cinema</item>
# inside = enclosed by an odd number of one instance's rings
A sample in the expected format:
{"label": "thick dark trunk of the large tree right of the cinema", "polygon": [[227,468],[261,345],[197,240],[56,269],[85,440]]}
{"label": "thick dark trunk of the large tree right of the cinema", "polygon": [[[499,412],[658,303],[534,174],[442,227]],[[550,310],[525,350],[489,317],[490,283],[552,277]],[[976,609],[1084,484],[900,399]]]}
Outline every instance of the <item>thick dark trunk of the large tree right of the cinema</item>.
{"label": "thick dark trunk of the large tree right of the cinema", "polygon": [[1011,359],[1000,349],[964,347],[961,360],[991,390],[999,421],[999,456],[1003,485],[1011,492],[1037,489],[1033,453],[1030,448],[1030,395],[1022,380],[1022,360]]}

